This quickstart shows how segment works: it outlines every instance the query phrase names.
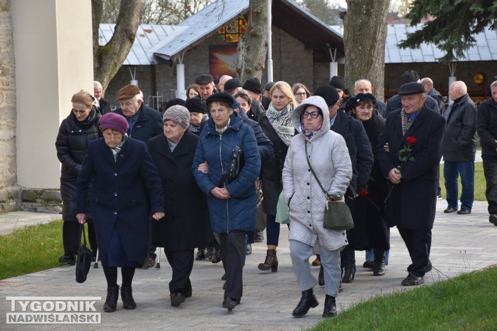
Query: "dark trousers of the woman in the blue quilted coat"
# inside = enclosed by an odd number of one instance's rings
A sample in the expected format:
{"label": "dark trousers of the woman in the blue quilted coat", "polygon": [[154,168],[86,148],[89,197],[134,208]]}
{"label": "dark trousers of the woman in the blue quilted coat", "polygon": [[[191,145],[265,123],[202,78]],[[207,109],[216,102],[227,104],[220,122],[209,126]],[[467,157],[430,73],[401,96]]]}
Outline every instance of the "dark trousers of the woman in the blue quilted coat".
{"label": "dark trousers of the woman in the blue quilted coat", "polygon": [[220,233],[221,258],[226,270],[225,298],[240,299],[243,294],[243,267],[245,256],[246,231],[231,231]]}

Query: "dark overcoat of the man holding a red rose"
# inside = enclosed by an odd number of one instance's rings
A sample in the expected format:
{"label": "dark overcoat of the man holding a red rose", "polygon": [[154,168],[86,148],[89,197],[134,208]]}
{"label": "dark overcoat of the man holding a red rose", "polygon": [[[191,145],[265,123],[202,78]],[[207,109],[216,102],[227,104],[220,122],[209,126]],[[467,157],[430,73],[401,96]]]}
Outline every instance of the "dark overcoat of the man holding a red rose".
{"label": "dark overcoat of the man holding a red rose", "polygon": [[[394,186],[387,200],[388,221],[390,226],[428,230],[433,228],[435,219],[440,159],[445,147],[445,119],[438,111],[424,105],[405,135],[401,121],[401,110],[388,114],[375,148],[383,176],[388,178],[388,173],[401,164],[399,151],[407,146],[406,138],[412,136],[417,140],[411,146],[414,161],[407,161],[401,170],[401,182]],[[383,149],[387,142],[389,152]],[[390,182],[389,190],[392,185]]]}

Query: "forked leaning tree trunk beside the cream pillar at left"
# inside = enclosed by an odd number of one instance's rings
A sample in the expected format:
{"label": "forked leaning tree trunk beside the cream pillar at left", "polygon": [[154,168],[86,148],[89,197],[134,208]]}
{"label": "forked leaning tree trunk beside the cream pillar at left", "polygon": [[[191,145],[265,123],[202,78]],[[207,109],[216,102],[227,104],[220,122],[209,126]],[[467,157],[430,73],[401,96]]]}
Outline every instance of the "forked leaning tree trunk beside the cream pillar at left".
{"label": "forked leaning tree trunk beside the cream pillar at left", "polygon": [[93,77],[102,84],[105,91],[110,80],[122,66],[133,46],[136,31],[140,25],[143,0],[122,0],[117,16],[114,34],[104,46],[98,45],[102,0],[91,0],[93,18]]}

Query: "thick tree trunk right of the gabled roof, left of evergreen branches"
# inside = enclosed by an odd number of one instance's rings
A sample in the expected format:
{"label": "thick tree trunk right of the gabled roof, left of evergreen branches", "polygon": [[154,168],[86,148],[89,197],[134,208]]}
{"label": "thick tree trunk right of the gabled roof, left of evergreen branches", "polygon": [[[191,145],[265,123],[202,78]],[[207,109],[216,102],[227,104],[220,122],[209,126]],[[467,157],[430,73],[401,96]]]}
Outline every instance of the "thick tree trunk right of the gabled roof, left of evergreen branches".
{"label": "thick tree trunk right of the gabled roof, left of evergreen branches", "polygon": [[375,97],[382,101],[389,5],[390,0],[347,0],[343,19],[346,86],[352,90],[356,80],[366,78]]}

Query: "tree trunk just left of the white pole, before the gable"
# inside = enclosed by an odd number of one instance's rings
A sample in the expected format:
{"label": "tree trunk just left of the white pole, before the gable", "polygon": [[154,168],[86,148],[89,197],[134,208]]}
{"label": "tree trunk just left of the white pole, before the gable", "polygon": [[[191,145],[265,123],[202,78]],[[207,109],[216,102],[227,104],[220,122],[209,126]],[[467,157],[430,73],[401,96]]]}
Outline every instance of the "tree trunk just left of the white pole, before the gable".
{"label": "tree trunk just left of the white pole, before the gable", "polygon": [[250,0],[246,14],[248,28],[237,47],[237,74],[242,82],[261,80],[267,55],[267,1]]}

